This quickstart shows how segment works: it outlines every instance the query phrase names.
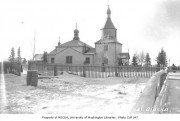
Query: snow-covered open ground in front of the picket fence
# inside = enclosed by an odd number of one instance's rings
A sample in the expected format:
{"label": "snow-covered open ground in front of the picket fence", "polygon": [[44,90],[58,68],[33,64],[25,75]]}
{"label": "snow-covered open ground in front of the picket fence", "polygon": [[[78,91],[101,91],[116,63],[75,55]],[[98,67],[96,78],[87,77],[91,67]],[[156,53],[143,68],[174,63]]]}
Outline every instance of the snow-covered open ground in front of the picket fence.
{"label": "snow-covered open ground in front of the picket fence", "polygon": [[[65,73],[26,86],[26,74],[5,75],[6,113],[121,114],[130,113],[148,78],[84,78]],[[2,113],[2,112],[0,112]]]}

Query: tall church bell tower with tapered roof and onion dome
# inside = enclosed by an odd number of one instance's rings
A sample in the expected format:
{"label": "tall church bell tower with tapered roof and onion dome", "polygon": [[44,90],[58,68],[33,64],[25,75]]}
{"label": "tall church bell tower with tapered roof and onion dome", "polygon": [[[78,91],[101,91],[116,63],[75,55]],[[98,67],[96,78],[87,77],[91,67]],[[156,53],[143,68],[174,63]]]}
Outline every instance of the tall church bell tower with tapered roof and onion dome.
{"label": "tall church bell tower with tapered roof and onion dome", "polygon": [[111,9],[108,5],[105,25],[101,29],[101,39],[95,43],[95,62],[98,65],[117,65],[118,54],[122,44],[117,41],[117,29],[111,20]]}

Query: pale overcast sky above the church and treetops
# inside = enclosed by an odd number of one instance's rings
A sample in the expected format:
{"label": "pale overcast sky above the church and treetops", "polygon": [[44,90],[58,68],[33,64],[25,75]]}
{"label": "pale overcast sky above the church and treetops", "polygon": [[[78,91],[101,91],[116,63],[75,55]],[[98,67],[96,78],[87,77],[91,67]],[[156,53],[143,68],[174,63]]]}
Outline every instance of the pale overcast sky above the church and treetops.
{"label": "pale overcast sky above the church and treetops", "polygon": [[[75,24],[80,40],[95,46],[107,18],[108,0],[1,0],[0,55],[8,58],[18,47],[24,58],[52,51],[72,40]],[[151,61],[161,48],[171,64],[180,65],[180,0],[109,0],[111,18],[123,52],[149,52]]]}

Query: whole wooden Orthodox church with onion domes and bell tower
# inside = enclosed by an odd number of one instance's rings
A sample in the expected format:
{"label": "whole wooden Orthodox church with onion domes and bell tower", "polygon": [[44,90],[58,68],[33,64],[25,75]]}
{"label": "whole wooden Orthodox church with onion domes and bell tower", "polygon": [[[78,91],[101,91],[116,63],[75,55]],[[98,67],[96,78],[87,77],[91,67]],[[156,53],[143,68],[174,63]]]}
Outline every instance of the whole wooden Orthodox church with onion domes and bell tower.
{"label": "whole wooden Orthodox church with onion domes and bell tower", "polygon": [[48,54],[48,63],[55,64],[91,64],[91,65],[128,65],[129,53],[122,53],[122,44],[117,41],[117,29],[111,20],[108,6],[107,20],[101,29],[101,39],[95,42],[95,48],[79,38],[79,30],[74,30],[73,40],[58,45]]}

